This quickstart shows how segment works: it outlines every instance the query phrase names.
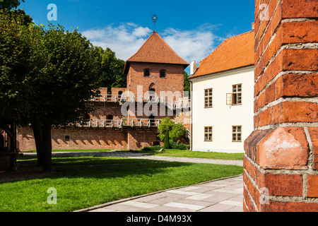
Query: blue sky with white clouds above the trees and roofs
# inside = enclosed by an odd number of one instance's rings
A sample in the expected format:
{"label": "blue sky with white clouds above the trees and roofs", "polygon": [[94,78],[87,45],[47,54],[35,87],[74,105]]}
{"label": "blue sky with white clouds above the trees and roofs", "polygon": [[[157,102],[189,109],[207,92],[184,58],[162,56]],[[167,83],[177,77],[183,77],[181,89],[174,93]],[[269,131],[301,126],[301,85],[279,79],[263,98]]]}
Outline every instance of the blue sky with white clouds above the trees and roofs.
{"label": "blue sky with white clouds above the trees and roofs", "polygon": [[66,30],[78,28],[94,45],[110,47],[123,60],[153,32],[154,13],[159,35],[180,57],[197,64],[225,38],[252,30],[254,22],[254,1],[250,0],[25,0],[19,8],[35,23],[47,25],[49,4],[57,6],[54,24]]}

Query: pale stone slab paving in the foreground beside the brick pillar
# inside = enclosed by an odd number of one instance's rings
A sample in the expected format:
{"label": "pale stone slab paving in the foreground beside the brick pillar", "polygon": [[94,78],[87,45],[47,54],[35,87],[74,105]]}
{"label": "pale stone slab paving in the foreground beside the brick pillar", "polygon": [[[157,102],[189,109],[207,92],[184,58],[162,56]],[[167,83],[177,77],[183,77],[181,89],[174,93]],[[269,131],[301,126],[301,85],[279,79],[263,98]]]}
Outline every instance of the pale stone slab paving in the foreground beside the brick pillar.
{"label": "pale stone slab paving in the foreground beside the brick pillar", "polygon": [[243,212],[243,176],[168,189],[155,194],[129,198],[129,200],[114,204],[105,203],[86,211]]}

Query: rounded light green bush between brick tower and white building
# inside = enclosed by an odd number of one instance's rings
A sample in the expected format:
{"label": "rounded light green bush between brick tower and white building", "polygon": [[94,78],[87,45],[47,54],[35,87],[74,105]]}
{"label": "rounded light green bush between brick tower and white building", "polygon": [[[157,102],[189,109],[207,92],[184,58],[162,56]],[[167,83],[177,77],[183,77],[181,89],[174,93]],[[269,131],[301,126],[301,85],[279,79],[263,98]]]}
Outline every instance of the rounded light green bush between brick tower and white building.
{"label": "rounded light green bush between brick tower and white building", "polygon": [[161,141],[169,139],[169,141],[177,141],[185,134],[185,129],[182,124],[175,123],[170,118],[164,118],[158,126],[159,135]]}

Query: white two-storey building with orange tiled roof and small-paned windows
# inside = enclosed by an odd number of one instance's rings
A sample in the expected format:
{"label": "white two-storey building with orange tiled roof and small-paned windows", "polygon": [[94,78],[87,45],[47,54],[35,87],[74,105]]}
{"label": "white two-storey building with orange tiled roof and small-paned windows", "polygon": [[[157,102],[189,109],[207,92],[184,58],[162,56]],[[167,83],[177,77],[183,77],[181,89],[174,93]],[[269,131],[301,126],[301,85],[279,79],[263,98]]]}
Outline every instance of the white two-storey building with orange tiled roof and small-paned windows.
{"label": "white two-storey building with orange tiled roof and small-paned windows", "polygon": [[192,73],[191,149],[244,153],[254,129],[254,31],[225,40]]}

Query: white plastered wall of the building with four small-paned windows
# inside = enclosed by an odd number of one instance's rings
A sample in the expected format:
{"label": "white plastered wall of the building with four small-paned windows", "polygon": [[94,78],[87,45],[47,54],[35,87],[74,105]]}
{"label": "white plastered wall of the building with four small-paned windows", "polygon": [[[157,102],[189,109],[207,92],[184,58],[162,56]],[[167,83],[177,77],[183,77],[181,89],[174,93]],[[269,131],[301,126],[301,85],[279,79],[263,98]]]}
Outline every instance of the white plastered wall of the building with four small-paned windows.
{"label": "white plastered wall of the building with four small-paned windows", "polygon": [[[244,153],[244,140],[254,129],[254,66],[192,78],[192,150]],[[226,105],[232,85],[242,84],[242,105]],[[204,107],[204,90],[213,88],[213,107]],[[213,141],[204,127],[213,126]],[[232,142],[232,126],[242,126],[242,142]]]}

